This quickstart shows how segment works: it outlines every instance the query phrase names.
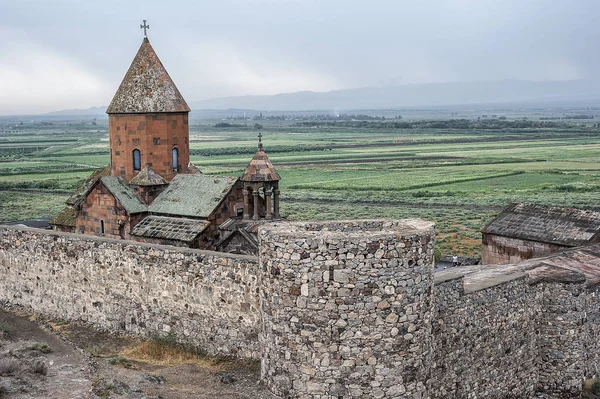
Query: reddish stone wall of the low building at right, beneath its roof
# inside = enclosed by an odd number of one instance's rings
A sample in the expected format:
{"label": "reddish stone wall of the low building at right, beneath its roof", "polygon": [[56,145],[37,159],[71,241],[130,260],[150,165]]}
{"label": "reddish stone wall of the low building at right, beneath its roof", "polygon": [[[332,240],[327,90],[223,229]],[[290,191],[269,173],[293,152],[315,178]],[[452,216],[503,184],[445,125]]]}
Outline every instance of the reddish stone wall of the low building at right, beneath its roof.
{"label": "reddish stone wall of the low building at right, beneath its roof", "polygon": [[566,245],[556,245],[486,233],[483,234],[482,242],[481,263],[484,265],[518,263],[571,248]]}

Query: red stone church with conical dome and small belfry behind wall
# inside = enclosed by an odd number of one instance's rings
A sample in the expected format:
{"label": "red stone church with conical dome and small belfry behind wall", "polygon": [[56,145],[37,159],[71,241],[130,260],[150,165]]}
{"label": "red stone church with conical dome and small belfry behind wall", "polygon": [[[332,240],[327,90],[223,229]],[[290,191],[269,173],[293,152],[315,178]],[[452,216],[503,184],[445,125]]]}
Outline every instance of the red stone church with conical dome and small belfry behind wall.
{"label": "red stone church with conical dome and small belfry behind wall", "polygon": [[190,163],[190,108],[147,37],[106,113],[110,165],[93,173],[50,224],[55,230],[255,253],[279,218],[279,174],[258,148],[241,177]]}

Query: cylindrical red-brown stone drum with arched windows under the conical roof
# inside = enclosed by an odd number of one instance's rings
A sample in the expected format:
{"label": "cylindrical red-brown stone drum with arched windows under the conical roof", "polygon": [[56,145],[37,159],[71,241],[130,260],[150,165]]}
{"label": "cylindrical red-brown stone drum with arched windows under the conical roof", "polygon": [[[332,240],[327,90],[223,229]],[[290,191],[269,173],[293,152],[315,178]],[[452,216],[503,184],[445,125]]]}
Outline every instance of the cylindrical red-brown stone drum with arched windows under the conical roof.
{"label": "cylindrical red-brown stone drum with arched windows under the conical roof", "polygon": [[[109,115],[111,175],[129,182],[136,174],[133,151],[139,150],[143,168],[150,167],[165,180],[187,173],[190,162],[188,113],[148,113]],[[179,165],[173,165],[172,151],[179,152]]]}

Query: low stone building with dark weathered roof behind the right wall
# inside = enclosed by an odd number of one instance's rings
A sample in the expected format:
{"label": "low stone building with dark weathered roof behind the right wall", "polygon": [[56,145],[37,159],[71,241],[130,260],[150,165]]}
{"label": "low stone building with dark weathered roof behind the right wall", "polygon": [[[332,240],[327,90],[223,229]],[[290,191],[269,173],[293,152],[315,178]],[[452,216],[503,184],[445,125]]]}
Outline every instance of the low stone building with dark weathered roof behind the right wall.
{"label": "low stone building with dark weathered roof behind the right wall", "polygon": [[600,212],[515,203],[481,229],[483,264],[510,264],[600,242]]}

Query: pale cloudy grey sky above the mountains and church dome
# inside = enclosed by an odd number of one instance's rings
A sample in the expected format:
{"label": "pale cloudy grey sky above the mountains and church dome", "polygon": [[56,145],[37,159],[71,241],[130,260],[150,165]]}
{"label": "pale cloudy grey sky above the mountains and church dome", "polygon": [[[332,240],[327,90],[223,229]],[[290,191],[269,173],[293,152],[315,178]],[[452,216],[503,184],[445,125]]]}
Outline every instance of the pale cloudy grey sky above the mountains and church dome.
{"label": "pale cloudy grey sky above the mountains and church dome", "polygon": [[148,36],[193,102],[594,79],[597,0],[0,0],[0,115],[107,105]]}

